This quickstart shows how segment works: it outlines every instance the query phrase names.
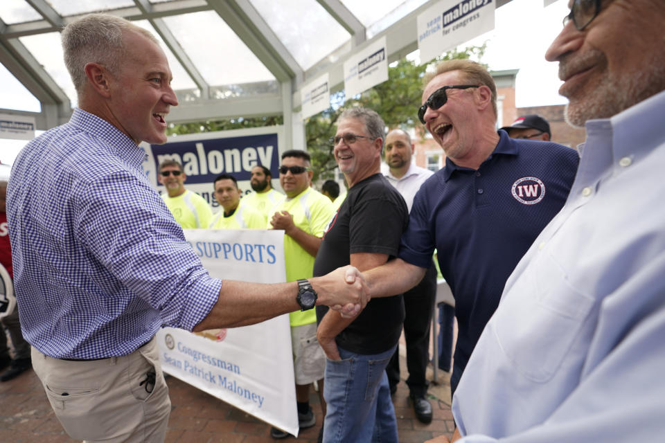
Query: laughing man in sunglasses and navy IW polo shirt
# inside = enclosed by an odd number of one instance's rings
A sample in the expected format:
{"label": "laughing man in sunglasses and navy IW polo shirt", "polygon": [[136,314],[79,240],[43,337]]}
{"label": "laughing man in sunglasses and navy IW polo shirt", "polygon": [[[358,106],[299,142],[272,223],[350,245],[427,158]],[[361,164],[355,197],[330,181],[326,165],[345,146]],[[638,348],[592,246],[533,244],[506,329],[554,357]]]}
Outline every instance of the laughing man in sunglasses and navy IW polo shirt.
{"label": "laughing man in sunglasses and navy IW polo shirt", "polygon": [[496,86],[476,62],[441,62],[425,82],[418,117],[447,158],[416,193],[398,262],[416,284],[438,251],[459,326],[454,393],[508,275],[563,206],[578,154],[497,132]]}

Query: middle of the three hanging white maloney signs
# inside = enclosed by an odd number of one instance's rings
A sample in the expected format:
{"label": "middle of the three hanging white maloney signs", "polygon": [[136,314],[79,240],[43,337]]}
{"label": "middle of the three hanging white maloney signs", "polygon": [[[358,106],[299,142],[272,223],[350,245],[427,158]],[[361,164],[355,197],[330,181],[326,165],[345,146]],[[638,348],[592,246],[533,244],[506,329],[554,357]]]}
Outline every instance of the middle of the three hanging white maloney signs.
{"label": "middle of the three hanging white maloney signs", "polygon": [[388,80],[386,37],[363,48],[344,62],[344,93],[351,98]]}

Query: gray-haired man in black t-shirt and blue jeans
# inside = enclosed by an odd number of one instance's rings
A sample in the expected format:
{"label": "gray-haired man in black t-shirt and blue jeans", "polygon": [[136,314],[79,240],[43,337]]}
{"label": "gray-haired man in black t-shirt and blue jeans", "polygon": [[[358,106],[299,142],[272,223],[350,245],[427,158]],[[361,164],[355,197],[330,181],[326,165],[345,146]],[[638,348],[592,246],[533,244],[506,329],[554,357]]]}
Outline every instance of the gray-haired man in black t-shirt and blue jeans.
{"label": "gray-haired man in black t-shirt and blue jeans", "polygon": [[[398,253],[409,211],[380,174],[384,133],[383,120],[371,109],[347,109],[337,120],[335,159],[349,189],[323,236],[314,275],[346,264],[366,271]],[[385,368],[402,330],[402,296],[371,300],[355,320],[325,309],[317,309],[317,319],[319,344],[328,356],[323,442],[397,442]]]}

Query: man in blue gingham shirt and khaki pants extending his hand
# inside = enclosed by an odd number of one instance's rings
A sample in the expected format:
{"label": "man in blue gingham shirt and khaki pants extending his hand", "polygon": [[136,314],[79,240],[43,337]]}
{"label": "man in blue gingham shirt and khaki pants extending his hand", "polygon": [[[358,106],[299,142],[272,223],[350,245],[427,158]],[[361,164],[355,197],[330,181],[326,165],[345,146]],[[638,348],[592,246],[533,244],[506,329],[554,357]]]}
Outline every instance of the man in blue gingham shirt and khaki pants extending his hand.
{"label": "man in blue gingham shirt and khaki pants extending his hand", "polygon": [[[354,269],[285,284],[211,278],[141,171],[178,104],[157,40],[89,15],[62,33],[78,92],[71,120],[19,154],[8,219],[21,325],[69,435],[163,441],[170,412],[154,334],[258,323],[314,304],[354,316]],[[318,292],[318,300],[314,291]]]}

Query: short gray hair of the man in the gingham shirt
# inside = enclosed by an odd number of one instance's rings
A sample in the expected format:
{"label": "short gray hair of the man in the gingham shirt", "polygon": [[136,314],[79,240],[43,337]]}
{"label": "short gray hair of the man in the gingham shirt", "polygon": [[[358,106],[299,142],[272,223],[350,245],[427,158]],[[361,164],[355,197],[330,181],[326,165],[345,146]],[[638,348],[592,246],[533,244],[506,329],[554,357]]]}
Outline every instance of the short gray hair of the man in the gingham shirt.
{"label": "short gray hair of the man in the gingham shirt", "polygon": [[159,45],[159,40],[148,30],[114,15],[86,15],[72,21],[64,28],[62,31],[64,64],[79,96],[86,83],[86,64],[101,64],[113,75],[117,75],[120,71],[121,61],[125,56],[123,35],[127,31],[139,33]]}

